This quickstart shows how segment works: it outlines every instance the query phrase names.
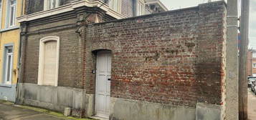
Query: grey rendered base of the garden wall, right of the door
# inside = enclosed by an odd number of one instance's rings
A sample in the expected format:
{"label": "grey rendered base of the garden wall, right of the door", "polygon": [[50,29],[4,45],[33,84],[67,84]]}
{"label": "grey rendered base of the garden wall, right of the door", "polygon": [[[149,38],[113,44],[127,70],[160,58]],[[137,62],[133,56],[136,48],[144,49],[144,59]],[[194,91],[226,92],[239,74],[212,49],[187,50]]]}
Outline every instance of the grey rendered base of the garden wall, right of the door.
{"label": "grey rendered base of the garden wall, right of the door", "polygon": [[196,118],[196,109],[193,107],[116,98],[111,98],[110,106],[112,120],[194,120]]}

